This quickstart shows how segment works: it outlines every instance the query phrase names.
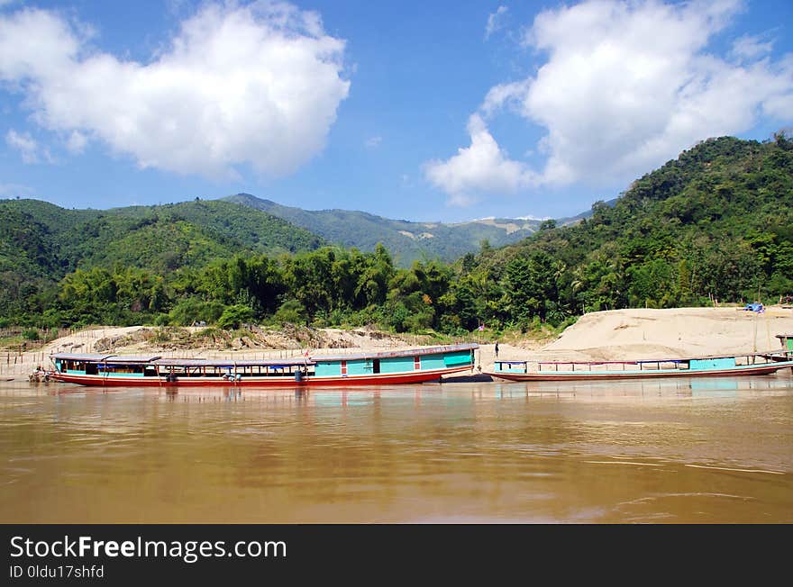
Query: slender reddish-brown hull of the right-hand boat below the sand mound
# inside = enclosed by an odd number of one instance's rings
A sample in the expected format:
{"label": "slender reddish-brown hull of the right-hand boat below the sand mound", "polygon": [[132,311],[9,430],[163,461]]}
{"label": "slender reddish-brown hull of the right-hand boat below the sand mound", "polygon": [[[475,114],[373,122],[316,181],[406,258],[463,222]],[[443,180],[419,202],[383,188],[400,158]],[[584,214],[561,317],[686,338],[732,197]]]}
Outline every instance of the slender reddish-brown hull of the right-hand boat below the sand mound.
{"label": "slender reddish-brown hull of the right-hand boat below the sand mound", "polygon": [[598,381],[598,380],[617,380],[617,379],[651,379],[651,378],[670,378],[670,377],[734,377],[738,375],[770,375],[779,371],[793,367],[793,361],[785,364],[769,363],[763,365],[738,366],[728,369],[669,369],[661,371],[580,371],[560,372],[546,371],[533,373],[505,373],[491,372],[491,377],[504,379],[506,381]]}

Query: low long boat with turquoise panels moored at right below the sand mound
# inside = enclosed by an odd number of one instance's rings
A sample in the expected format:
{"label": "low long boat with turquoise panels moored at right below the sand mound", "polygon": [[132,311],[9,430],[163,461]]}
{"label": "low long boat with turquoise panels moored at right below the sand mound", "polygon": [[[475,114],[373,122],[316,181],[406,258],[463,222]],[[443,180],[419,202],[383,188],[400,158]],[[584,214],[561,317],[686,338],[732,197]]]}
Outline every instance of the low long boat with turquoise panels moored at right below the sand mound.
{"label": "low long boat with turquoise panels moored at right below the sand mound", "polygon": [[634,361],[515,361],[497,360],[491,377],[506,381],[586,381],[650,377],[726,377],[770,375],[793,367],[788,351],[729,357],[692,357]]}

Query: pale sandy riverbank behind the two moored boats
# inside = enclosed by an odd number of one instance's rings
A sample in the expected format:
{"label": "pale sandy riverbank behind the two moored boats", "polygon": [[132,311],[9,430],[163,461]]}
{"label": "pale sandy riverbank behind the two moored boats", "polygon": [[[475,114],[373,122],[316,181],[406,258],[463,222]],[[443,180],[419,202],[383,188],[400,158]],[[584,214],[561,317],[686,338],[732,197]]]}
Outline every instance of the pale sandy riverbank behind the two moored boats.
{"label": "pale sandy riverbank behind the two moored boats", "polygon": [[[27,378],[37,365],[47,365],[51,352],[104,352],[115,343],[113,351],[125,355],[157,354],[200,357],[296,357],[311,348],[312,354],[340,349],[407,348],[423,344],[416,337],[396,337],[368,330],[314,330],[311,339],[290,338],[283,333],[264,337],[266,347],[240,341],[238,348],[217,349],[169,348],[141,337],[143,327],[82,330],[56,339],[44,348],[23,353],[10,363],[0,365],[5,379]],[[135,336],[135,333],[139,333]],[[736,308],[679,308],[671,310],[613,310],[591,312],[561,336],[541,348],[526,339],[512,344],[500,343],[498,357],[532,360],[621,360],[632,358],[697,357],[752,353],[779,348],[778,334],[793,334],[793,309],[771,306],[757,314]],[[305,338],[305,335],[301,335]],[[110,342],[109,342],[110,341]],[[319,345],[322,345],[321,347]],[[488,370],[495,359],[494,345],[482,345],[478,365]]]}

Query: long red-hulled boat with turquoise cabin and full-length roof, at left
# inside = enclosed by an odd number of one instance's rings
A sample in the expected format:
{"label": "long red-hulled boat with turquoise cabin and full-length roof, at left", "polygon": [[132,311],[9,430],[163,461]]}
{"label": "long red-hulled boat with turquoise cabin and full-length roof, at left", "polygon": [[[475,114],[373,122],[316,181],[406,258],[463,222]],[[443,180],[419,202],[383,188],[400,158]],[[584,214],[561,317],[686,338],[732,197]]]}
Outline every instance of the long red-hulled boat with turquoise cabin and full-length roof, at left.
{"label": "long red-hulled boat with turquoise cabin and full-length roof, at left", "polygon": [[477,348],[476,343],[466,343],[355,355],[239,361],[56,353],[50,356],[55,368],[47,376],[64,383],[105,387],[418,384],[473,369]]}

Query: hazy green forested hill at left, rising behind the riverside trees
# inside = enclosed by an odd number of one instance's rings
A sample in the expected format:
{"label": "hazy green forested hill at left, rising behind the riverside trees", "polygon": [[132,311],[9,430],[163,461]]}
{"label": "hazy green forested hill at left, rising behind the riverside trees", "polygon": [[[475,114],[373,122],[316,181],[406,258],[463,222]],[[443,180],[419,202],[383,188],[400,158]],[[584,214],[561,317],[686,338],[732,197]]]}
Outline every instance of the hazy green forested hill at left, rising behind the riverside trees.
{"label": "hazy green forested hill at left, rising behind the riverside trees", "polygon": [[265,212],[220,201],[68,210],[0,201],[0,312],[77,268],[137,267],[164,275],[236,254],[294,253],[324,240]]}

